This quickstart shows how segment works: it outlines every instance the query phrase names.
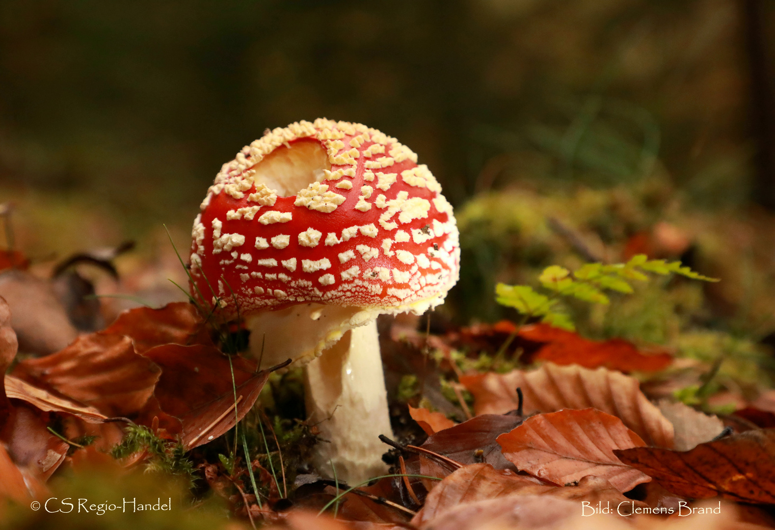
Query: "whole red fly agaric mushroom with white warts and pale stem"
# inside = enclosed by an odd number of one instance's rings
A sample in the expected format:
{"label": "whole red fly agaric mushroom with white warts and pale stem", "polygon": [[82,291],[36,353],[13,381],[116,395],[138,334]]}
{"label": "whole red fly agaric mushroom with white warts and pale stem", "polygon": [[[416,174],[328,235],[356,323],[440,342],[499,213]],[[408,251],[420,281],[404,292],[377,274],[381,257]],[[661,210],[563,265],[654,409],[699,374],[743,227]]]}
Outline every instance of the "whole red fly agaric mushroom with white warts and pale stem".
{"label": "whole red fly agaric mushroom with white warts and pale stem", "polygon": [[[306,365],[315,465],[384,470],[391,435],[375,319],[421,315],[458,278],[452,207],[417,155],[360,123],[268,131],[224,164],[192,231],[192,295],[241,315],[264,366]],[[209,298],[211,298],[210,300]],[[202,300],[205,298],[205,300]]]}

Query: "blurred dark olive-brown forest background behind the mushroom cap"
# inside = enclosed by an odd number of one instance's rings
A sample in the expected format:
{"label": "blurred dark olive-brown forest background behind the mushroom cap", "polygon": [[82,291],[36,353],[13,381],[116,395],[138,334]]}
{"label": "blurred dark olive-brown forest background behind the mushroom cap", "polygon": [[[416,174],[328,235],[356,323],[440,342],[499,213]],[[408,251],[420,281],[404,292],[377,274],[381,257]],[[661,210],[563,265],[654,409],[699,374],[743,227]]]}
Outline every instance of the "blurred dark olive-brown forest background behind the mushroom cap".
{"label": "blurred dark olive-brown forest background behind the mushroom cap", "polygon": [[[611,261],[676,212],[713,216],[688,223],[694,239],[769,215],[773,5],[5,0],[0,194],[38,260],[162,223],[185,247],[221,164],[264,129],[363,122],[439,178],[463,228],[458,306],[497,318],[494,279],[529,279],[510,264],[564,263],[549,217]],[[494,205],[492,191],[516,194]],[[743,254],[765,251],[755,239]]]}

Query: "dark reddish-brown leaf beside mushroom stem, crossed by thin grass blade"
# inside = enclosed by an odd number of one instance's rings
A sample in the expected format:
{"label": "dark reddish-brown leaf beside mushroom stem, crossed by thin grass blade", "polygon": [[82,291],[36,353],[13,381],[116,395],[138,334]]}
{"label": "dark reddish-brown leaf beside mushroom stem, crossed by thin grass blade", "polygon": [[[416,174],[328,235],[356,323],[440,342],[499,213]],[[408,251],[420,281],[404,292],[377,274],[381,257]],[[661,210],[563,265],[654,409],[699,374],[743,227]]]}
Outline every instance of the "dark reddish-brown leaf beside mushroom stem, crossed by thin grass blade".
{"label": "dark reddish-brown leaf beside mushroom stem, crossed by thin grass blade", "polygon": [[161,367],[153,394],[164,412],[181,420],[186,449],[232,428],[253,407],[270,372],[279,368],[256,372],[255,363],[234,356],[232,384],[229,358],[211,346],[166,344],[149,349],[145,357]]}

